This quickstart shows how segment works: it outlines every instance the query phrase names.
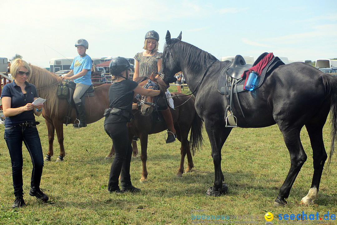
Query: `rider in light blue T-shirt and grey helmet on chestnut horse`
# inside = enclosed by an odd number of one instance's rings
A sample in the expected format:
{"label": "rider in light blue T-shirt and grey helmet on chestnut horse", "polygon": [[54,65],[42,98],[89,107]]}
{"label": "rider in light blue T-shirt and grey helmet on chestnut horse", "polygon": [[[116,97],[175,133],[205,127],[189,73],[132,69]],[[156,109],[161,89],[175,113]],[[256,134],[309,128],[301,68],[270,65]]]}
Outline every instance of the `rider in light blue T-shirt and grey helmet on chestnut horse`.
{"label": "rider in light blue T-shirt and grey helmet on chestnut horse", "polygon": [[76,83],[73,99],[78,115],[76,120],[79,120],[79,123],[74,123],[73,127],[81,128],[87,126],[85,108],[81,102],[81,97],[91,85],[92,60],[90,56],[86,54],[86,51],[89,48],[87,40],[78,39],[75,43],[75,47],[77,48],[77,53],[79,55],[74,58],[74,61],[72,61],[70,66],[71,71],[62,77],[62,80],[74,80]]}

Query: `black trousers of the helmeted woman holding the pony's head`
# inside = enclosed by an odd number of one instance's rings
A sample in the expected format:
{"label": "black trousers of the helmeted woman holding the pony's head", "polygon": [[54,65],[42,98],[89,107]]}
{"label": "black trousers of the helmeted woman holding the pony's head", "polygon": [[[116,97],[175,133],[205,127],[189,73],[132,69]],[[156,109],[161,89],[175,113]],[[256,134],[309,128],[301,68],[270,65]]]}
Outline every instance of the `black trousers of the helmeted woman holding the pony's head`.
{"label": "black trousers of the helmeted woman holding the pony's head", "polygon": [[131,185],[130,162],[132,146],[128,137],[126,122],[104,125],[105,132],[112,139],[115,148],[115,159],[111,164],[108,190],[115,191],[118,187],[118,178],[121,175],[121,186]]}

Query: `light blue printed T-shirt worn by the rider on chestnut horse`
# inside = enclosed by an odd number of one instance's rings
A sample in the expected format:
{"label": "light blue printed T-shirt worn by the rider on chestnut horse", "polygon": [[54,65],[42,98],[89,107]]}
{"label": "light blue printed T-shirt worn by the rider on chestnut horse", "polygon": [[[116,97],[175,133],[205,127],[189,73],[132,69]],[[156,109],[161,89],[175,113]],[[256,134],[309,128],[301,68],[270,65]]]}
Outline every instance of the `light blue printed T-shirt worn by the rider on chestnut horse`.
{"label": "light blue printed T-shirt worn by the rider on chestnut horse", "polygon": [[70,69],[74,71],[74,75],[80,73],[82,69],[88,69],[88,72],[83,76],[74,79],[75,83],[91,85],[91,58],[88,55],[81,57],[80,55],[74,58],[72,61]]}

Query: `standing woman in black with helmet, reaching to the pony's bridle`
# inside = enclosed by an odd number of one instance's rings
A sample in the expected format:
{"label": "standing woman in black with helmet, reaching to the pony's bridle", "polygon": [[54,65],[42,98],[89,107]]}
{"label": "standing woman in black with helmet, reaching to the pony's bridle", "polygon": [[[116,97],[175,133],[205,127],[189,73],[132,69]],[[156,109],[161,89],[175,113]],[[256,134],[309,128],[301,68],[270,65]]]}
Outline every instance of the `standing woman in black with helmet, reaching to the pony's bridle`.
{"label": "standing woman in black with helmet, reaching to the pony's bridle", "polygon": [[[139,192],[141,190],[131,184],[132,146],[126,123],[132,118],[132,109],[137,108],[137,104],[132,104],[135,94],[157,96],[160,91],[145,89],[129,80],[130,63],[124,57],[112,59],[109,70],[114,83],[109,89],[110,108],[105,110],[104,129],[113,141],[116,156],[110,169],[108,190],[115,193]],[[121,188],[118,186],[119,175],[121,175]]]}

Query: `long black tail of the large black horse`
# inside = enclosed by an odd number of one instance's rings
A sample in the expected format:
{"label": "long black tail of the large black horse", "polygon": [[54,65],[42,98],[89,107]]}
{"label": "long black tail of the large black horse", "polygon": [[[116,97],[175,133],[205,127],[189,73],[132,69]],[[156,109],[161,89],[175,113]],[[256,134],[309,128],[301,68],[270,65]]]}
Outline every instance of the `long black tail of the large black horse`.
{"label": "long black tail of the large black horse", "polygon": [[330,105],[330,122],[331,122],[331,147],[327,163],[327,169],[331,163],[331,158],[335,152],[335,143],[337,142],[337,77],[331,75],[322,76],[323,84],[327,96],[331,98]]}

